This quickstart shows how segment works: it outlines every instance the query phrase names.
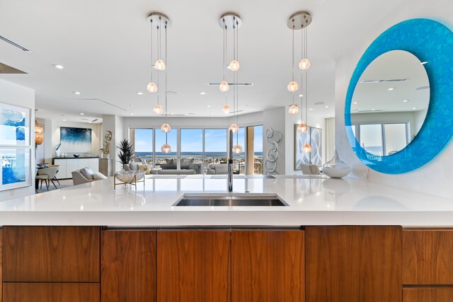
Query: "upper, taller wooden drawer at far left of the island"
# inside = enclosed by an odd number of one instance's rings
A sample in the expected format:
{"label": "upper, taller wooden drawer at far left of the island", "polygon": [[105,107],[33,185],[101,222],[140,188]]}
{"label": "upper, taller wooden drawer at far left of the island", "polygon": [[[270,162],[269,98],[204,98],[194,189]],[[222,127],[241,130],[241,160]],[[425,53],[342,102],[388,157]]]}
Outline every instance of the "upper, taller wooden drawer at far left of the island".
{"label": "upper, taller wooden drawer at far left of the island", "polygon": [[97,226],[4,226],[4,281],[98,282],[100,231]]}

